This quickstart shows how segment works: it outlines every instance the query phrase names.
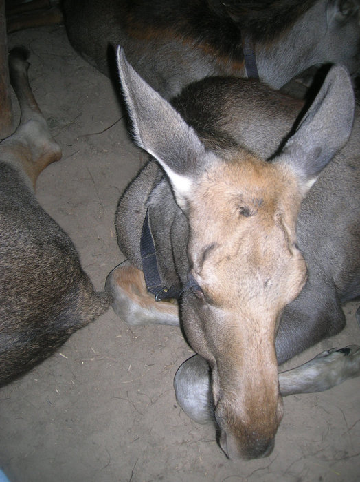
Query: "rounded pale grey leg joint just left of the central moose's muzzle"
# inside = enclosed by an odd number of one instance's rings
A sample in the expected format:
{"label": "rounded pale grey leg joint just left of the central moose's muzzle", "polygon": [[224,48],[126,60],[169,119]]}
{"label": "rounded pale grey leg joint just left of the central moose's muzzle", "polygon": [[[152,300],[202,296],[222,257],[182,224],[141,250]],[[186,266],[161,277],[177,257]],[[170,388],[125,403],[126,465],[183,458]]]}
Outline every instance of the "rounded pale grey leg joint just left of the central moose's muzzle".
{"label": "rounded pale grey leg joint just left of the central moose's muzzle", "polygon": [[210,368],[200,355],[187,359],[174,378],[177,404],[197,423],[214,421],[210,398]]}

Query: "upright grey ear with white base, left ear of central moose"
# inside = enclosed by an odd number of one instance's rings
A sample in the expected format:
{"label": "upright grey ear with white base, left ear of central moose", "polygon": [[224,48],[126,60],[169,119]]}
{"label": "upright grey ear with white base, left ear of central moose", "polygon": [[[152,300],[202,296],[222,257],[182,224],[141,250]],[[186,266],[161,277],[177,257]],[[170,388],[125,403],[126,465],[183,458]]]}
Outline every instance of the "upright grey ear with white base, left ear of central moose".
{"label": "upright grey ear with white base, left ear of central moose", "polygon": [[194,129],[170,103],[135,72],[120,47],[117,67],[135,140],[163,167],[179,206],[184,208],[191,195],[194,176],[200,174],[199,170],[211,154],[205,152]]}

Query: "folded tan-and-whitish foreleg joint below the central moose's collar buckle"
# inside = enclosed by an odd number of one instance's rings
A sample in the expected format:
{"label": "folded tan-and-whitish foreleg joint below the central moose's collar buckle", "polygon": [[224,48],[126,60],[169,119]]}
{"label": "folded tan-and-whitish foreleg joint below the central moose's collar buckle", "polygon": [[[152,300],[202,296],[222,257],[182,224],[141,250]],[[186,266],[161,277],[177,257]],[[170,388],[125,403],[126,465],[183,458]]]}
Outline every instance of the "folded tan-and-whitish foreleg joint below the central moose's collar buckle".
{"label": "folded tan-and-whitish foreleg joint below the central moose's collar buckle", "polygon": [[109,273],[105,289],[113,297],[113,311],[129,325],[179,325],[177,304],[156,302],[146,289],[142,271],[128,260]]}

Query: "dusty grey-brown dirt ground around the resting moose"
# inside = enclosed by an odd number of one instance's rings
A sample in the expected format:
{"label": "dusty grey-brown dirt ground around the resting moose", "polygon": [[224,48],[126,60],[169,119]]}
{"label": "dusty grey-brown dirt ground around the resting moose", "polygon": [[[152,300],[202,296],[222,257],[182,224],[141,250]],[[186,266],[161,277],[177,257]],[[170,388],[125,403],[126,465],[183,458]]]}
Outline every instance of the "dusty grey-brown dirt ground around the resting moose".
{"label": "dusty grey-brown dirt ground around the resting moose", "polygon": [[[11,34],[32,52],[30,81],[63,160],[38,182],[38,199],[69,233],[97,289],[123,256],[117,200],[144,163],[109,80],[71,49],[64,28]],[[348,328],[294,360],[359,343]],[[359,379],[285,399],[275,450],[233,462],[212,426],[177,407],[172,379],[192,351],[179,329],[128,328],[112,310],[53,357],[0,390],[0,464],[11,482],[300,482],[360,480]]]}

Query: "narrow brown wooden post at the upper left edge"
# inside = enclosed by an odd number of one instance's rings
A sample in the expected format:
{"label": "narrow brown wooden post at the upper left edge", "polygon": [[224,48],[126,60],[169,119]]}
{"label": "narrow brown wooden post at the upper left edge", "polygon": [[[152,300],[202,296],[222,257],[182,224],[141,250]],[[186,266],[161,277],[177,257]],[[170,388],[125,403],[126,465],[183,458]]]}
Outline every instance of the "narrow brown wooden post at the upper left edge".
{"label": "narrow brown wooden post at the upper left edge", "polygon": [[13,131],[5,0],[0,0],[0,140]]}

